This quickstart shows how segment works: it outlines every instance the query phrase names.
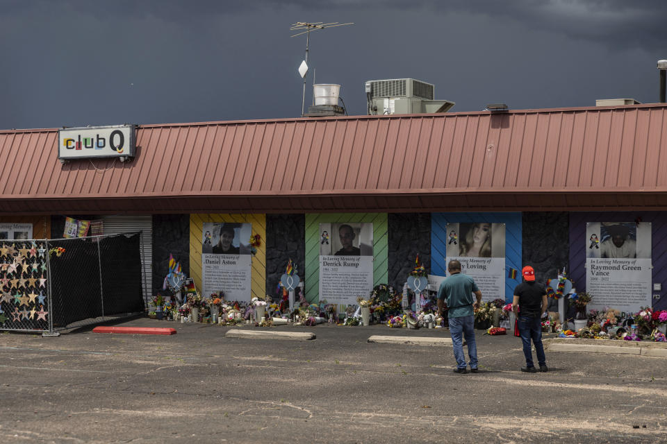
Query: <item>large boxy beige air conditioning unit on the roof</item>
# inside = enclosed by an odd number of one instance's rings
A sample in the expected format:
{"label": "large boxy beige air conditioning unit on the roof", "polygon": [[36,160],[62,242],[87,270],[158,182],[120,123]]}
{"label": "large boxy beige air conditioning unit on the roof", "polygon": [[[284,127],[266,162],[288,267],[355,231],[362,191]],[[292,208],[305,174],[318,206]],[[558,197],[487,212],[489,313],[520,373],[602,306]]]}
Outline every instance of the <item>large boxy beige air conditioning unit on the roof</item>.
{"label": "large boxy beige air conditioning unit on the roof", "polygon": [[434,85],[413,78],[369,80],[365,83],[368,114],[447,112],[454,102],[434,100]]}

